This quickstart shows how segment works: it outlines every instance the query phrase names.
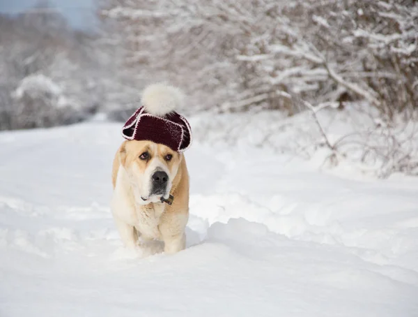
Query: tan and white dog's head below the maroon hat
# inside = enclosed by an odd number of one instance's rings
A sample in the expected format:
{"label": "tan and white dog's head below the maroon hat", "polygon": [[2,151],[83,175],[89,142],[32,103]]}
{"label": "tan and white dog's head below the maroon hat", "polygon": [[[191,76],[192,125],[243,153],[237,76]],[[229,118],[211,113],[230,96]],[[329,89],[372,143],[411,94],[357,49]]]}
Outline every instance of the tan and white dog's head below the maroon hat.
{"label": "tan and white dog's head below the maroon hat", "polygon": [[151,141],[125,141],[119,150],[121,165],[125,168],[137,201],[141,204],[169,198],[182,154]]}

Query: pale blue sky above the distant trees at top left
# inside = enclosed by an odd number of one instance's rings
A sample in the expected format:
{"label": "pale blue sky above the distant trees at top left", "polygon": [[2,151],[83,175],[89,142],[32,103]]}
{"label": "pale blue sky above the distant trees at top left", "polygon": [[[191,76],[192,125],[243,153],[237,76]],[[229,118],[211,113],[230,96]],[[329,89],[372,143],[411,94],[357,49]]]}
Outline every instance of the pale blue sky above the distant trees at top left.
{"label": "pale blue sky above the distant trees at top left", "polygon": [[[39,0],[0,0],[0,12],[21,13],[39,2]],[[48,2],[57,8],[75,29],[92,29],[96,22],[94,0],[49,0]]]}

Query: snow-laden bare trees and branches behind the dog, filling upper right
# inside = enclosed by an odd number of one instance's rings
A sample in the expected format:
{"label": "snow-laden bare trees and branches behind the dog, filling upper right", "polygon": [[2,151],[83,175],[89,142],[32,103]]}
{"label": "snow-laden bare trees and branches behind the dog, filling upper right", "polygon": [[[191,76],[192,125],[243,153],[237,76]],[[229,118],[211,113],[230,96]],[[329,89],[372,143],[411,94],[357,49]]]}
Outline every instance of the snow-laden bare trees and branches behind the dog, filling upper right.
{"label": "snow-laden bare trees and branches behind the dog, filling upper right", "polygon": [[179,82],[201,107],[294,112],[295,94],[364,99],[390,119],[418,104],[412,0],[113,0],[101,13],[141,79]]}

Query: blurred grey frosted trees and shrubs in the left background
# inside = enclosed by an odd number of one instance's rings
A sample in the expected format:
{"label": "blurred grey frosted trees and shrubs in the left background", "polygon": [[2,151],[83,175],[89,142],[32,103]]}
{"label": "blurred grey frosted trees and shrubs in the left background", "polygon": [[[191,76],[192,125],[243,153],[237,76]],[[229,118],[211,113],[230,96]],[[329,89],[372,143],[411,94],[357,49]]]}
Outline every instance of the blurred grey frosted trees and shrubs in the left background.
{"label": "blurred grey frosted trees and shrubs in the left background", "polygon": [[0,130],[70,124],[132,97],[117,54],[54,10],[0,15],[0,38]]}

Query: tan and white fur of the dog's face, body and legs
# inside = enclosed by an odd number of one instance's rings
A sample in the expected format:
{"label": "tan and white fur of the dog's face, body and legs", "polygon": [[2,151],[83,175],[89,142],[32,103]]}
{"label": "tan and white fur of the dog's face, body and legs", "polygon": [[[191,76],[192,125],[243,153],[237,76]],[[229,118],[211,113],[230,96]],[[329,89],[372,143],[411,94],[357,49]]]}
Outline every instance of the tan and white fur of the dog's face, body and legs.
{"label": "tan and white fur of the dog's face, body and legs", "polygon": [[[167,101],[166,93],[170,91],[162,89],[160,93]],[[153,100],[158,101],[157,96],[153,90]],[[176,98],[173,94],[171,96]],[[150,155],[148,160],[139,158],[144,152]],[[167,154],[172,155],[170,161],[165,159]],[[169,176],[164,198],[171,194],[174,197],[172,205],[161,202],[161,195],[150,196],[150,179],[155,170],[163,170]],[[164,242],[166,253],[185,249],[189,176],[183,153],[151,141],[126,140],[114,158],[112,184],[111,210],[125,246],[139,247],[140,237],[145,241],[157,239]]]}

